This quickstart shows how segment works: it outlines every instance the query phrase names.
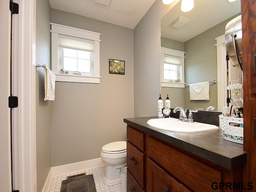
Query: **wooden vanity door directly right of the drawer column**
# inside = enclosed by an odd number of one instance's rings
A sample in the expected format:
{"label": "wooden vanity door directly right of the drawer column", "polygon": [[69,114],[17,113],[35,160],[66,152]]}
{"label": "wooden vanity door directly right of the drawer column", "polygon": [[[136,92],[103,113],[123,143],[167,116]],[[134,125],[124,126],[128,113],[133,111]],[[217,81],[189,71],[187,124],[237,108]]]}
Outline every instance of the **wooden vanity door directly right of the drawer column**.
{"label": "wooden vanity door directly right of the drawer column", "polygon": [[147,158],[147,192],[171,192],[172,178]]}

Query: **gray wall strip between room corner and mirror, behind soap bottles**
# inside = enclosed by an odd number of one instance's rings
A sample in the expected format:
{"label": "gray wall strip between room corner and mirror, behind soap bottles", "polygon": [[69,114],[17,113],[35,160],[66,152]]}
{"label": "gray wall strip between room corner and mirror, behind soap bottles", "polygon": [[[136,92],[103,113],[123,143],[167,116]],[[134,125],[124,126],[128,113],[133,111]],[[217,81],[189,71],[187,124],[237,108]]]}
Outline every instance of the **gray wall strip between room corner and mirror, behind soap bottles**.
{"label": "gray wall strip between room corner and mirror, behind soap bottles", "polygon": [[[177,0],[174,2],[177,3]],[[134,28],[134,116],[157,116],[160,93],[160,20],[174,4],[156,0]]]}

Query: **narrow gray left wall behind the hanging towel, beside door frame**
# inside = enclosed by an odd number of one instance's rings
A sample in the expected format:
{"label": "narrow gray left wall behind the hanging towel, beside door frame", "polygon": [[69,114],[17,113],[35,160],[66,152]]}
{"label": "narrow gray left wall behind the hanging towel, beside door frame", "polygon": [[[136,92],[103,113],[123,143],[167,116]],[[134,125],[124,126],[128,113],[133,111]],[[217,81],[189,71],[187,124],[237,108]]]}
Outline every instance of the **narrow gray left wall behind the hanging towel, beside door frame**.
{"label": "narrow gray left wall behind the hanging towel, beside door frame", "polygon": [[[36,1],[36,62],[50,67],[50,4]],[[51,168],[51,104],[44,101],[44,69],[36,71],[36,173],[42,191]]]}

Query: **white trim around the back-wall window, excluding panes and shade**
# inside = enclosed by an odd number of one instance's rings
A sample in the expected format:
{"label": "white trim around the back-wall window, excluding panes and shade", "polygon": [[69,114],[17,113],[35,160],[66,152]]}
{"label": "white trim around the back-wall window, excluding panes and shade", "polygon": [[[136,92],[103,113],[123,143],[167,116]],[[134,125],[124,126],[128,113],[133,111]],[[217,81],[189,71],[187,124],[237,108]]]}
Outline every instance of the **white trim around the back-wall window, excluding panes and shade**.
{"label": "white trim around the back-wall window, excluding panes and shade", "polygon": [[[62,82],[84,82],[100,83],[100,33],[64,26],[60,24],[51,24],[52,34],[52,72],[56,75],[56,81]],[[94,76],[60,74],[58,65],[58,35],[71,36],[94,41]]]}

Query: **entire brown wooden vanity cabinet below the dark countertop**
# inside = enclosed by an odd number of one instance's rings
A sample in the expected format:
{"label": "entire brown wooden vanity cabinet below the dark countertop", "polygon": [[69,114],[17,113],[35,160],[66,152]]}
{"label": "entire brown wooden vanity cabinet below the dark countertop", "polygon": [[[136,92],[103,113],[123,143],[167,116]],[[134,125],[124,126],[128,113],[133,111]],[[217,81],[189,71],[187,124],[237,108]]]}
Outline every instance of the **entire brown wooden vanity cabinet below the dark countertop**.
{"label": "entire brown wooden vanity cabinet below the dark countertop", "polygon": [[127,167],[128,192],[242,192],[220,187],[241,184],[242,167],[228,170],[132,126],[127,126]]}

